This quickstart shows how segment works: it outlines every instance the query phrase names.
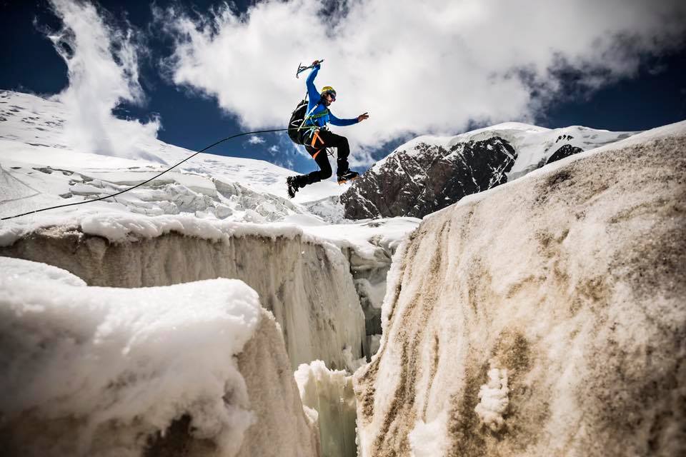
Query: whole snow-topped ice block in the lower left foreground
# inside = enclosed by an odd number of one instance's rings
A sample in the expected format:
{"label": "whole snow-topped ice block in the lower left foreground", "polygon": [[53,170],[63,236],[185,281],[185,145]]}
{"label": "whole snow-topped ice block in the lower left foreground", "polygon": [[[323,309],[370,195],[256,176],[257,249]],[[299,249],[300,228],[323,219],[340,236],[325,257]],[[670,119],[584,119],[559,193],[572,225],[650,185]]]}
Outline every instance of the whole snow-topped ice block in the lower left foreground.
{"label": "whole snow-topped ice block in the lower left foreground", "polygon": [[4,456],[319,455],[277,323],[242,281],[88,287],[13,258],[0,272]]}

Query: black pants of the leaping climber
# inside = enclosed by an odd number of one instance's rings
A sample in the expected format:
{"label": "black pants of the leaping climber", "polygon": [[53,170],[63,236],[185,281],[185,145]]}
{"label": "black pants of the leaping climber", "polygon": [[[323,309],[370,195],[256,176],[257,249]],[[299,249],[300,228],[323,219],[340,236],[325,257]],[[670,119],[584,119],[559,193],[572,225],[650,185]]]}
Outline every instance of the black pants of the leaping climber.
{"label": "black pants of the leaping climber", "polygon": [[348,156],[350,154],[350,146],[348,139],[345,136],[333,134],[328,130],[320,130],[317,137],[314,139],[314,146],[312,146],[312,136],[304,135],[305,150],[312,156],[319,170],[312,171],[310,174],[298,176],[301,187],[307,184],[317,183],[323,179],[331,177],[331,164],[329,164],[329,155],[327,148],[337,148],[337,174],[341,175],[348,171]]}

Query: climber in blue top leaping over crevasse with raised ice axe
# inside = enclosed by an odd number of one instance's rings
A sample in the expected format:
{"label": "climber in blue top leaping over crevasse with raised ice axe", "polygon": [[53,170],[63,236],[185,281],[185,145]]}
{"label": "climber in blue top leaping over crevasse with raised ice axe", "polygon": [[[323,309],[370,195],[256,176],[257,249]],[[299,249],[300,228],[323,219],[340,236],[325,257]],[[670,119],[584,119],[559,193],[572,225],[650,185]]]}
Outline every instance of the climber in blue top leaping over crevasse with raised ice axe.
{"label": "climber in blue top leaping over crevasse with raised ice axe", "polygon": [[[352,119],[338,119],[329,111],[329,106],[336,101],[336,91],[332,86],[322,87],[322,91],[317,91],[314,87],[314,78],[317,76],[319,66],[322,61],[312,63],[312,71],[307,76],[307,97],[309,101],[303,100],[293,111],[289,123],[288,134],[297,144],[303,144],[305,150],[317,162],[319,170],[309,174],[289,176],[286,181],[288,185],[288,196],[293,198],[298,189],[313,184],[322,179],[329,179],[332,175],[331,164],[327,148],[337,148],[337,175],[338,184],[344,184],[359,176],[356,171],[348,168],[348,155],[350,146],[348,139],[344,136],[334,134],[328,129],[329,123],[334,126],[349,126],[369,119],[369,114],[360,114]],[[309,68],[309,67],[305,67]],[[301,71],[301,69],[299,69]]]}

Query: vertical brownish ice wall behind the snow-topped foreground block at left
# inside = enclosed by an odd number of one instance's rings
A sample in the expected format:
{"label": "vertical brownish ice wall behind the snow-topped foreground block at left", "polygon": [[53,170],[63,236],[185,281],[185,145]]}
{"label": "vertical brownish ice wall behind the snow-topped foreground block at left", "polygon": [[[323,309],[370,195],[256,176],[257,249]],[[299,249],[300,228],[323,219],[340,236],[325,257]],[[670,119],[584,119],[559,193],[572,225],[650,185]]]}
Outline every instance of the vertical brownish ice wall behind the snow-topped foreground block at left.
{"label": "vertical brownish ice wall behind the snow-topped foreground block at left", "polygon": [[221,241],[167,233],[111,243],[76,229],[41,229],[0,255],[59,266],[91,286],[166,286],[237,278],[259,293],[284,333],[294,371],[322,360],[345,368],[343,349],[362,356],[364,315],[341,250],[302,236],[234,235]]}

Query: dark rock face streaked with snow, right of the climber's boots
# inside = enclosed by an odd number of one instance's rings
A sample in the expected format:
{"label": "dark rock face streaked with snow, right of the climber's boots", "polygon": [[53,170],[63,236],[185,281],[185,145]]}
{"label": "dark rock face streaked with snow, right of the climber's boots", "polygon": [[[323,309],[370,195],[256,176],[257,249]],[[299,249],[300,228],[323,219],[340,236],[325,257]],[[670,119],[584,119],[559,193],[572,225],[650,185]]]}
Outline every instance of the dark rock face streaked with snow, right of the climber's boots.
{"label": "dark rock face streaked with snow, right of the climber's boots", "polygon": [[341,196],[346,219],[422,218],[469,194],[507,182],[517,152],[504,139],[459,143],[445,149],[420,143],[387,157]]}

